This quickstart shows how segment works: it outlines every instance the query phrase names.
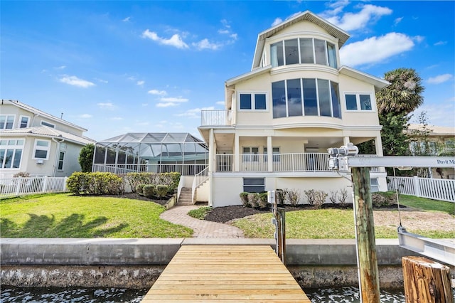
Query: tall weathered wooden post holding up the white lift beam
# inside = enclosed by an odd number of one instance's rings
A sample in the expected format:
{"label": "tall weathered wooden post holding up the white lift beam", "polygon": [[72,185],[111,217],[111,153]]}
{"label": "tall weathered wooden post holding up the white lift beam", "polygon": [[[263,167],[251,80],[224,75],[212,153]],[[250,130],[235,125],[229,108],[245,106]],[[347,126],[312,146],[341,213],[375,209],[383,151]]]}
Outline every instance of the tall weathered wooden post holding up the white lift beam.
{"label": "tall weathered wooden post holding up the white lift beam", "polygon": [[375,245],[373,202],[370,193],[370,169],[353,167],[355,232],[357,239],[360,299],[380,303],[378,257]]}

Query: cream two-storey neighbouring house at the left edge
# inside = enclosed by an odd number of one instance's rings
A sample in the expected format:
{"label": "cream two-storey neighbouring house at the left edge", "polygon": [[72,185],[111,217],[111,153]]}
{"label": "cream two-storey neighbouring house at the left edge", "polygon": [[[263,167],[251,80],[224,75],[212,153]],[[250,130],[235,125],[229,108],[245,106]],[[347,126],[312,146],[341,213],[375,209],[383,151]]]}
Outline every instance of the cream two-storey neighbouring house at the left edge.
{"label": "cream two-storey neighbouring house at the left edge", "polygon": [[80,149],[94,143],[80,126],[16,100],[0,104],[0,178],[70,176],[80,171]]}

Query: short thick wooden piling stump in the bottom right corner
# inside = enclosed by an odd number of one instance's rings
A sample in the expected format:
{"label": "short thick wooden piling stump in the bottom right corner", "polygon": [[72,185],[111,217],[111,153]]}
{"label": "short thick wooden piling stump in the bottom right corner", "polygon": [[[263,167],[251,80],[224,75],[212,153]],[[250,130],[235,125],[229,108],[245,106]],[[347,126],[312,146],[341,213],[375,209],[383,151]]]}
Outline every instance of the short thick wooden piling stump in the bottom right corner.
{"label": "short thick wooden piling stump in the bottom right corner", "polygon": [[450,268],[425,257],[402,257],[406,303],[453,303]]}

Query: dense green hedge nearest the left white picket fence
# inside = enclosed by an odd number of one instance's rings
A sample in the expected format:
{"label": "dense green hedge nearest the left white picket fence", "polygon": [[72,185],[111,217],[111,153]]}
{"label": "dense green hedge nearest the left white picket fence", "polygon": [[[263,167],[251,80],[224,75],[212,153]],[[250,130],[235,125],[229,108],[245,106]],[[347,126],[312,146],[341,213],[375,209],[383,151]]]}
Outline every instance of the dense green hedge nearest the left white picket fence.
{"label": "dense green hedge nearest the left white picket fence", "polygon": [[112,173],[77,171],[68,177],[68,190],[75,195],[118,195],[124,191],[124,181]]}

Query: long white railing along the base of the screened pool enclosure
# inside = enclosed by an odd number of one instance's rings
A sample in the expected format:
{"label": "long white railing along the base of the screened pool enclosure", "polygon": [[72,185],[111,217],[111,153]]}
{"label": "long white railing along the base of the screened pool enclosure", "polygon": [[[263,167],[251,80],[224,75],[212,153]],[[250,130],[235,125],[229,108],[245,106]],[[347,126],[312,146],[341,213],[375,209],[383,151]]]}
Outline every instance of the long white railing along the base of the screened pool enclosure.
{"label": "long white railing along the base of the screened pool enclosure", "polygon": [[177,172],[182,176],[194,176],[203,171],[205,167],[207,167],[205,164],[93,164],[92,171],[113,174]]}

